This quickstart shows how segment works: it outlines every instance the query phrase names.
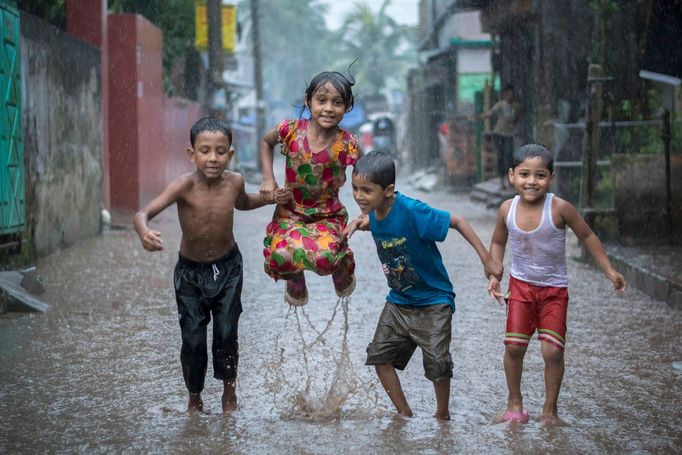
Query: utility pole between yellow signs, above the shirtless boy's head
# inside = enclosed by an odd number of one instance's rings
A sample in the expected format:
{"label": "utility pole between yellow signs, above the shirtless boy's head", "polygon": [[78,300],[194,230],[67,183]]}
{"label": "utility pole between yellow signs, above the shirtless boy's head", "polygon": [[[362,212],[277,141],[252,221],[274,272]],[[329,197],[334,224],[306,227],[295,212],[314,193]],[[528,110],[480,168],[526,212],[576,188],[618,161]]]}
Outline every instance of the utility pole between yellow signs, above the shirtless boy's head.
{"label": "utility pole between yellow signs, above the shirtless boy's head", "polygon": [[[209,115],[224,118],[229,113],[228,96],[225,94],[227,108],[225,112],[214,107],[218,91],[224,88],[223,83],[223,30],[221,0],[207,0],[208,16],[208,96]],[[229,114],[228,114],[229,117]]]}

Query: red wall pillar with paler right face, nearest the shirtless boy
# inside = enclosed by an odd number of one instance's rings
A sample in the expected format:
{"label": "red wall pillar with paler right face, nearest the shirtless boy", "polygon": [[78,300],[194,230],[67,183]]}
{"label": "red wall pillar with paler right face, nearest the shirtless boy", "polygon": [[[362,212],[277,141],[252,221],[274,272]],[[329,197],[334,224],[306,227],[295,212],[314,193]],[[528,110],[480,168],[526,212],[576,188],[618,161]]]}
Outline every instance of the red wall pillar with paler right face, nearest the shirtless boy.
{"label": "red wall pillar with paler right face, nearest the shirtless boy", "polygon": [[163,36],[144,17],[109,16],[111,203],[135,211],[165,183]]}

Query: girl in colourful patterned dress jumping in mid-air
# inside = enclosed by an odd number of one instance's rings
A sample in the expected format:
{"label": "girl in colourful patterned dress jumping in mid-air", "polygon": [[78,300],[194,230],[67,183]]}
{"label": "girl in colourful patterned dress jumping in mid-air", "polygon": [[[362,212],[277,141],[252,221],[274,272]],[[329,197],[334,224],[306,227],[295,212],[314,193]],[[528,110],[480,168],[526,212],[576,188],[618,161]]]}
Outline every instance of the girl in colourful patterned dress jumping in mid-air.
{"label": "girl in colourful patterned dress jumping in mid-air", "polygon": [[[266,228],[265,272],[287,281],[284,299],[290,305],[308,302],[304,270],[331,274],[339,297],[355,289],[353,252],[341,235],[348,213],[339,200],[346,166],[362,153],[357,138],[339,128],[353,109],[353,84],[335,71],[318,74],[305,91],[310,118],[284,120],[260,143],[260,193],[268,198],[264,200],[275,198],[280,204]],[[273,173],[277,143],[286,156],[284,188],[278,187]]]}

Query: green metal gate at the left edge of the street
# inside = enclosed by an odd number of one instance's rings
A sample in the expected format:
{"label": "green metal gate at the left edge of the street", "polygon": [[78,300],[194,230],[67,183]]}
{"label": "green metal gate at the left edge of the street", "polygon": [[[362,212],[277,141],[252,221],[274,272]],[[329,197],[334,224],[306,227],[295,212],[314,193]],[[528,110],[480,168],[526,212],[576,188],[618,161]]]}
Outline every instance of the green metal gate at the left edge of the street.
{"label": "green metal gate at the left edge of the street", "polygon": [[24,141],[21,126],[19,11],[0,0],[0,244],[24,229]]}

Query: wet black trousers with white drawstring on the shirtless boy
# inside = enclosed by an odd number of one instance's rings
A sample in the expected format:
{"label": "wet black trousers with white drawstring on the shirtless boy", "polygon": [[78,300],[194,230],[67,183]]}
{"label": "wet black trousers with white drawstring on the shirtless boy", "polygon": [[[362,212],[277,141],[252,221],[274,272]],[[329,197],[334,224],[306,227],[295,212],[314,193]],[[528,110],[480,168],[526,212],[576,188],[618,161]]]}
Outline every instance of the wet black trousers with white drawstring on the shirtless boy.
{"label": "wet black trousers with white drawstring on the shirtless boy", "polygon": [[215,262],[180,256],[174,274],[175,298],[182,331],[180,360],[190,393],[204,389],[208,353],[206,329],[213,315],[213,376],[237,377],[237,325],[242,312],[242,255],[235,247]]}

